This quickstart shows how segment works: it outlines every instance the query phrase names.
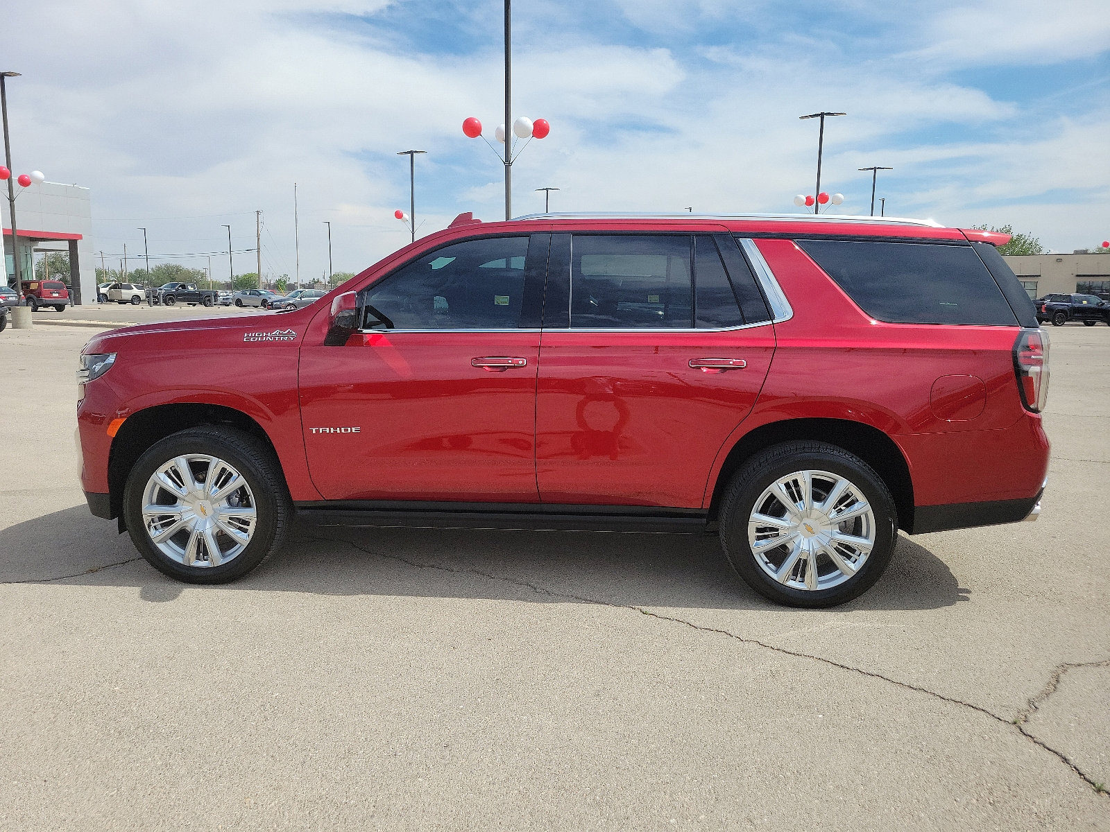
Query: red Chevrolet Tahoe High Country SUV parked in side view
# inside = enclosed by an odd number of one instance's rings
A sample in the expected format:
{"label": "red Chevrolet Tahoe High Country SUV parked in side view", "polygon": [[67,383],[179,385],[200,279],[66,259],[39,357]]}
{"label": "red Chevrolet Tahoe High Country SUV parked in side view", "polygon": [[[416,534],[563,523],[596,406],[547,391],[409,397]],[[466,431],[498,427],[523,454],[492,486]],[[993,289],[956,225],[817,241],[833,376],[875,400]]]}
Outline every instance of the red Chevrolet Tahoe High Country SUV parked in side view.
{"label": "red Chevrolet Tahoe High Country SUV parked in side view", "polygon": [[898,529],[1037,517],[1048,338],[1006,235],[465,217],[303,310],[94,337],[92,513],[198,584],[295,517],[717,531],[751,588],[805,607],[871,586]]}

